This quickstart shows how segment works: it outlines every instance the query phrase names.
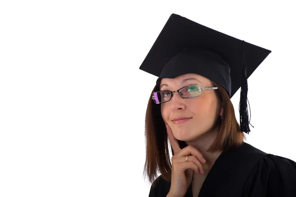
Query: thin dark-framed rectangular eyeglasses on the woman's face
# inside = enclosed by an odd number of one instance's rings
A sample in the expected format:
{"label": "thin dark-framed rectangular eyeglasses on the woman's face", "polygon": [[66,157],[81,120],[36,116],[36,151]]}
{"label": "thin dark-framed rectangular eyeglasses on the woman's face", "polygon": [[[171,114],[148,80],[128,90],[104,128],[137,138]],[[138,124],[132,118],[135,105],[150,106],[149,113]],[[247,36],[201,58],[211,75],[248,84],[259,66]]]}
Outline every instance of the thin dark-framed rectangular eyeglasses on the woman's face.
{"label": "thin dark-framed rectangular eyeglasses on the woman's face", "polygon": [[189,85],[183,88],[180,88],[176,91],[158,91],[152,93],[152,99],[156,104],[170,101],[175,92],[178,92],[180,97],[183,99],[199,97],[203,90],[216,90],[218,87],[205,87],[202,88],[200,85]]}

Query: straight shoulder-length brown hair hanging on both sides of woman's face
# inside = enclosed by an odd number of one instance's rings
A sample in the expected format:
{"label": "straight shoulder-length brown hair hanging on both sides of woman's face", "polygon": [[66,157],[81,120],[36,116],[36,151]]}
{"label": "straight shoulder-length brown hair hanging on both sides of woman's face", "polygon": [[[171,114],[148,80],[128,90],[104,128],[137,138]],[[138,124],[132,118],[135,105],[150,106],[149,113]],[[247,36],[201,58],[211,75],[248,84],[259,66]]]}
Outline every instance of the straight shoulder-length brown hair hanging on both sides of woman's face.
{"label": "straight shoulder-length brown hair hanging on both sides of woman's face", "polygon": [[[216,127],[220,130],[213,144],[207,150],[208,152],[224,151],[233,147],[237,147],[243,143],[245,135],[240,131],[240,126],[235,118],[232,102],[225,89],[217,83],[213,86],[218,87],[215,90],[218,99],[223,106],[223,121],[218,118]],[[152,90],[159,91],[159,82]],[[151,93],[151,94],[152,94]],[[149,98],[145,118],[145,137],[146,137],[146,162],[144,166],[144,174],[148,176],[150,183],[154,181],[159,172],[161,176],[167,180],[171,180],[172,164],[169,155],[168,135],[165,128],[165,123],[161,116],[160,104],[155,104]],[[187,145],[185,141],[178,140],[180,148],[183,149]],[[174,151],[171,148],[174,155]],[[156,182],[155,182],[156,184]],[[153,187],[153,185],[152,185]]]}

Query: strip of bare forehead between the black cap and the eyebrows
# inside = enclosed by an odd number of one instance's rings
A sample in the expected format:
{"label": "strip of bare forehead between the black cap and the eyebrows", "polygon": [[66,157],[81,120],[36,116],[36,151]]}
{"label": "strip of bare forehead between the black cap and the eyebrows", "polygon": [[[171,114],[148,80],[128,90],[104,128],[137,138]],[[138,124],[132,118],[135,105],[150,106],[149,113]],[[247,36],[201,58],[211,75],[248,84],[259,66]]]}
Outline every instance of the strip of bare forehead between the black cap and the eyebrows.
{"label": "strip of bare forehead between the black cap and the eyebrows", "polygon": [[163,78],[161,79],[161,83],[160,84],[170,84],[170,83],[182,83],[182,81],[184,80],[194,80],[194,81],[200,81],[201,83],[209,83],[210,80],[202,75],[199,74],[194,74],[194,73],[188,73],[188,74],[182,74],[179,75],[173,79],[171,78]]}

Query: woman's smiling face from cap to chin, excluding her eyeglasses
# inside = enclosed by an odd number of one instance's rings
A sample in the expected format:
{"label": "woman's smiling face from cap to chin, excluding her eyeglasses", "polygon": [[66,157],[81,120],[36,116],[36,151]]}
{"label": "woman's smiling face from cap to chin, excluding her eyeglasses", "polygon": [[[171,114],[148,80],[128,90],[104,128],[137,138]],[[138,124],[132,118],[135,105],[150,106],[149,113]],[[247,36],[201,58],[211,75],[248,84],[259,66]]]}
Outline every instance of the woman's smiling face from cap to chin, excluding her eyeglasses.
{"label": "woman's smiling face from cap to chin, excluding her eyeglasses", "polygon": [[[190,84],[199,84],[203,88],[213,87],[208,78],[190,73],[174,79],[163,78],[160,90],[176,91]],[[191,141],[213,129],[217,118],[222,115],[220,101],[214,91],[216,90],[203,90],[199,97],[189,99],[181,98],[176,92],[170,101],[160,104],[162,118],[170,126],[176,139]]]}

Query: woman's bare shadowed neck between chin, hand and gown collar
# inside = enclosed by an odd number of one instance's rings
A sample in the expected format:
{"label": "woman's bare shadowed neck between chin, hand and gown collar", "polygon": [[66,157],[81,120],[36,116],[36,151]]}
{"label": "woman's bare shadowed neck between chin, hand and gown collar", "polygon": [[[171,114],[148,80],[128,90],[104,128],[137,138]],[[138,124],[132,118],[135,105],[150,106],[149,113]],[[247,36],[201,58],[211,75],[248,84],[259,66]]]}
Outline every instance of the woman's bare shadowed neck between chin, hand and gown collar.
{"label": "woman's bare shadowed neck between chin, hand and gown collar", "polygon": [[196,138],[193,141],[187,141],[187,145],[191,145],[196,148],[207,161],[206,164],[203,164],[204,169],[209,171],[217,158],[221,155],[222,151],[215,151],[214,153],[207,152],[207,149],[210,148],[218,134],[217,130],[208,131]]}

